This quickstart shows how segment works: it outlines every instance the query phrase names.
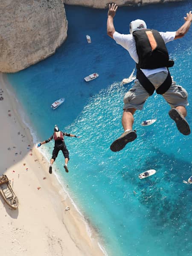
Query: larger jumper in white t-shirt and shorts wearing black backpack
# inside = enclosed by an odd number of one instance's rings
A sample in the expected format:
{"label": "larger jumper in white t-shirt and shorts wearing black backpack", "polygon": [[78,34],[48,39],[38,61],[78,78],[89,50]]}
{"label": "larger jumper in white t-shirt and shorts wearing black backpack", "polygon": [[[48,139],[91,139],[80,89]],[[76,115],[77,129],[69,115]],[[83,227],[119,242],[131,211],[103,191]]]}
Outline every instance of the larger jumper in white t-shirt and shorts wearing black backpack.
{"label": "larger jumper in white t-shirt and shorts wearing black backpack", "polygon": [[169,60],[165,44],[182,38],[188,32],[192,22],[191,11],[186,14],[185,23],[176,32],[147,29],[144,20],[133,20],[130,23],[130,34],[124,35],[116,32],[113,25],[117,8],[116,4],[109,4],[107,34],[124,47],[136,62],[137,80],[124,96],[122,115],[124,133],[111,144],[111,150],[119,151],[137,138],[136,131],[133,131],[133,115],[137,109],[143,109],[146,99],[154,93],[154,90],[162,94],[171,106],[169,116],[175,121],[180,133],[189,135],[191,131],[185,119],[186,106],[189,105],[188,94],[170,76],[168,67],[172,67],[174,61]]}

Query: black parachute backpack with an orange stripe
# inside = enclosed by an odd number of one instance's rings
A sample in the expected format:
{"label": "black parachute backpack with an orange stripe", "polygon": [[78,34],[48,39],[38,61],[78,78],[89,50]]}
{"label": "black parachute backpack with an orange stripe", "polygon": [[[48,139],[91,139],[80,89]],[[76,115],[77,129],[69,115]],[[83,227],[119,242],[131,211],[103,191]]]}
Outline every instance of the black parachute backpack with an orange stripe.
{"label": "black parachute backpack with an orange stripe", "polygon": [[154,29],[142,29],[133,32],[139,56],[138,68],[155,69],[172,67],[173,60],[169,60],[165,42],[160,33]]}

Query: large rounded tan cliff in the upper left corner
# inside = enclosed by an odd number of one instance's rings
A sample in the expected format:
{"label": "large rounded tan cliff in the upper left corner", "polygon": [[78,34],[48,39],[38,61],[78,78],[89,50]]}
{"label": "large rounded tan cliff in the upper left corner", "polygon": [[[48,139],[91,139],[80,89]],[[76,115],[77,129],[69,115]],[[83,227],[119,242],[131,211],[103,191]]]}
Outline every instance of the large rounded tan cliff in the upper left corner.
{"label": "large rounded tan cliff in the upper left corner", "polygon": [[1,72],[47,58],[67,37],[62,0],[0,0],[0,6]]}

